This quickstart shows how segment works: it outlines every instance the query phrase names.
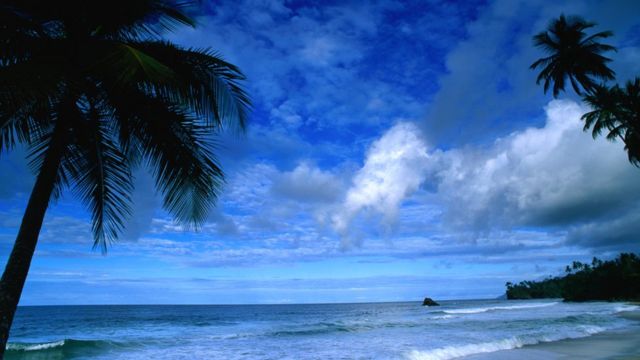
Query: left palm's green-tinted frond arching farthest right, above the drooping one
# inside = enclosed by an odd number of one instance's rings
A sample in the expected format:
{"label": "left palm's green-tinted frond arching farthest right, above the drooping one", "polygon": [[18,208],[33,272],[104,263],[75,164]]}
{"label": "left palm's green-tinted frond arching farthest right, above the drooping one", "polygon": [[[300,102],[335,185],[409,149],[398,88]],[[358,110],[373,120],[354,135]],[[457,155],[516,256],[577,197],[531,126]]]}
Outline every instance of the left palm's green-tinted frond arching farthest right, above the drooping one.
{"label": "left palm's green-tinted frond arching farthest right, above the drooping one", "polygon": [[[116,51],[99,68],[111,66],[109,73],[118,76],[116,88],[142,88],[149,95],[187,106],[208,124],[224,124],[244,130],[250,99],[239,81],[245,79],[240,70],[208,49],[182,49],[166,42],[129,43],[135,56]],[[146,68],[151,70],[145,71]],[[111,77],[113,77],[111,76]],[[112,80],[105,78],[104,82]]]}

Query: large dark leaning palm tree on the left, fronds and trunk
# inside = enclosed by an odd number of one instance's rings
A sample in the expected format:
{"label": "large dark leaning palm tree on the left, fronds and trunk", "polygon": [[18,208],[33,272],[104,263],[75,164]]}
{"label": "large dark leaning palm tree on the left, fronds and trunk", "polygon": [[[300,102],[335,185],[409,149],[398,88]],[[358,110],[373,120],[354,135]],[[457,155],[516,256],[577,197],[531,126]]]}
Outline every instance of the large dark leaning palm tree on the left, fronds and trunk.
{"label": "large dark leaning palm tree on the left, fronds and trunk", "polygon": [[148,166],[176,220],[197,227],[223,182],[213,137],[243,130],[240,70],[163,41],[194,26],[173,0],[1,0],[0,151],[29,149],[36,182],[0,280],[0,358],[51,199],[70,188],[106,251]]}

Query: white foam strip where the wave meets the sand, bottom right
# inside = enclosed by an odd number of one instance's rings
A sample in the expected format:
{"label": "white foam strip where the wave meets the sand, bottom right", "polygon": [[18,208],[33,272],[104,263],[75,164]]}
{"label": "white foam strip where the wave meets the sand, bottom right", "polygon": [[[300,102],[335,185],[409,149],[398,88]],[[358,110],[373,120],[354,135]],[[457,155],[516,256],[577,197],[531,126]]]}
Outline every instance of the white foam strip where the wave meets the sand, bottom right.
{"label": "white foam strip where the wave meets the sand, bottom right", "polygon": [[412,350],[406,354],[408,360],[448,360],[462,356],[491,353],[500,350],[518,349],[525,345],[535,345],[543,342],[576,339],[591,336],[606,329],[599,326],[579,326],[576,332],[569,334],[545,335],[540,337],[510,337],[507,339],[484,343],[452,345],[433,350]]}

